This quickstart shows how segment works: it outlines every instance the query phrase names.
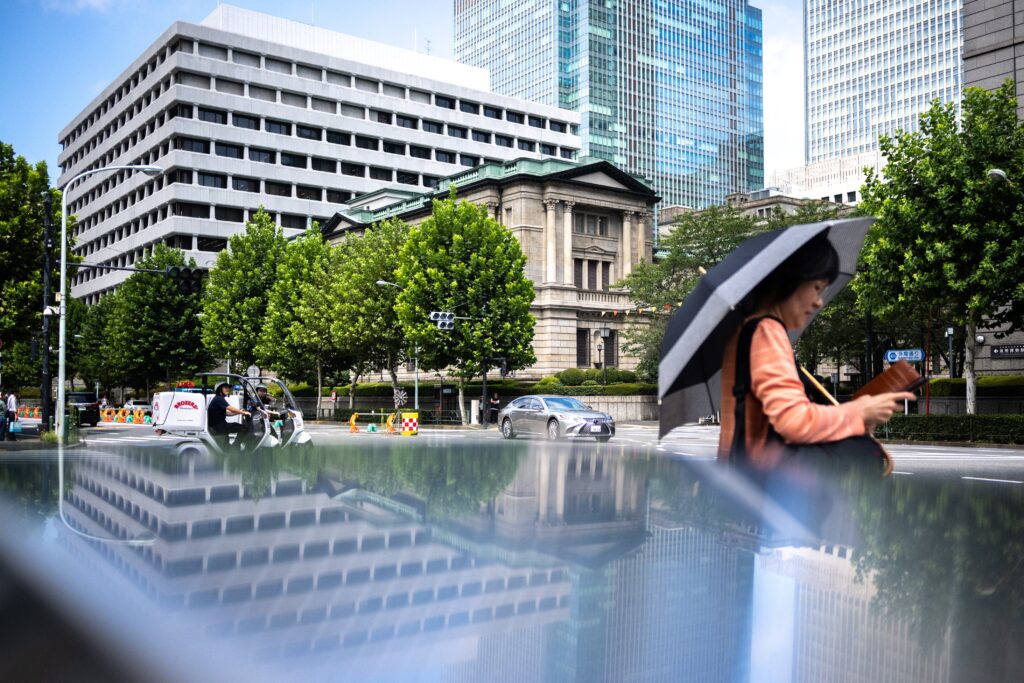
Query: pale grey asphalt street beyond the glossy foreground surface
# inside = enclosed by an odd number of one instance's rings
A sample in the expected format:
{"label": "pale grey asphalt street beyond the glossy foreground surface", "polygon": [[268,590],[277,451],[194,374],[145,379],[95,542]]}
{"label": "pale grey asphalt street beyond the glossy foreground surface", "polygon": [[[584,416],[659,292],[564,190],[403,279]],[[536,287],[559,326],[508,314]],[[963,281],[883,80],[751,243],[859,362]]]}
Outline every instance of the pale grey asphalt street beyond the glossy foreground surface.
{"label": "pale grey asphalt street beyond the glossy foreground surface", "polygon": [[[348,426],[338,423],[307,425],[315,443],[341,443],[357,440],[390,438],[416,438],[427,445],[443,444],[452,440],[486,441],[501,439],[497,428],[481,430],[479,427],[424,427],[419,436],[401,437],[365,430],[351,433]],[[101,424],[83,429],[86,442],[92,446],[104,444],[142,445],[168,442],[170,437],[158,436],[150,425]],[[523,440],[541,437],[527,437]],[[622,447],[651,449],[672,458],[711,460],[718,447],[717,427],[680,427],[660,441],[657,426],[653,423],[621,424],[614,438],[606,444],[589,439],[584,441],[594,449]],[[958,475],[978,485],[1024,485],[1024,447],[996,447],[972,445],[921,445],[890,443],[886,447],[895,461],[894,476],[921,476],[929,474]]]}

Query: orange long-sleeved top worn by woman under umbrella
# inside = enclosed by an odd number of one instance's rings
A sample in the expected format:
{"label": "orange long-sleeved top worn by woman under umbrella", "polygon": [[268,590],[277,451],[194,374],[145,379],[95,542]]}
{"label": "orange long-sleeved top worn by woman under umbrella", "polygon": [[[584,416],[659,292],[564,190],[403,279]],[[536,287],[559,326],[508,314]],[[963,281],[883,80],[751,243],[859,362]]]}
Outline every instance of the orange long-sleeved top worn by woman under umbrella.
{"label": "orange long-sleeved top worn by woman under umbrella", "polygon": [[[732,386],[736,377],[737,332],[725,348],[722,361],[722,431],[718,458],[729,459],[736,399]],[[746,453],[755,467],[772,467],[781,450],[768,442],[769,426],[787,443],[820,443],[865,433],[860,412],[851,403],[819,405],[812,402],[800,381],[793,346],[785,328],[776,319],[763,318],[751,340],[751,390],[744,401]]]}

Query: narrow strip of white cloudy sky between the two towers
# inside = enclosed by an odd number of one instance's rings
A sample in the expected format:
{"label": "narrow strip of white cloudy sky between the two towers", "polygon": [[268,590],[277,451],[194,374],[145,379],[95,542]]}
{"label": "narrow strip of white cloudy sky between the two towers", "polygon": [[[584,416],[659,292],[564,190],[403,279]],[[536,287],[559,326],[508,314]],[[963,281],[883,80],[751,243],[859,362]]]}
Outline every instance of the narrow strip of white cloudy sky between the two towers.
{"label": "narrow strip of white cloudy sky between the two towers", "polygon": [[804,12],[800,0],[759,0],[763,23],[765,178],[804,163]]}

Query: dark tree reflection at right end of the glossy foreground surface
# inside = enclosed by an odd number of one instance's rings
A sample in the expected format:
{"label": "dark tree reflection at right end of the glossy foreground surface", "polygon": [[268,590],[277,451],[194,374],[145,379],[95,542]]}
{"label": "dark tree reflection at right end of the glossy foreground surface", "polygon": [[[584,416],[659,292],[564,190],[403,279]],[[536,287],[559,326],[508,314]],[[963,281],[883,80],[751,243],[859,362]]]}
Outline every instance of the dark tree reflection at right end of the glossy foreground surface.
{"label": "dark tree reflection at right end of the glossy foreground surface", "polygon": [[856,515],[857,574],[873,580],[877,605],[924,644],[948,630],[954,680],[1010,680],[1024,635],[1024,494],[896,478],[861,489]]}

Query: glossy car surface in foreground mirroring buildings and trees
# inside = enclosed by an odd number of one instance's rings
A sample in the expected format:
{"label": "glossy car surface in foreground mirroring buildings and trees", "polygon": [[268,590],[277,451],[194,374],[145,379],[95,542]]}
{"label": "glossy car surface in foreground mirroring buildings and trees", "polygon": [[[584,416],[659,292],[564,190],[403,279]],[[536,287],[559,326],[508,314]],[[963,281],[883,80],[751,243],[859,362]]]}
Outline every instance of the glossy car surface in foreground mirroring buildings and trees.
{"label": "glossy car surface in foreground mirroring buildings and trees", "polygon": [[116,679],[1024,674],[1019,487],[367,443],[5,456],[0,578],[26,623]]}

